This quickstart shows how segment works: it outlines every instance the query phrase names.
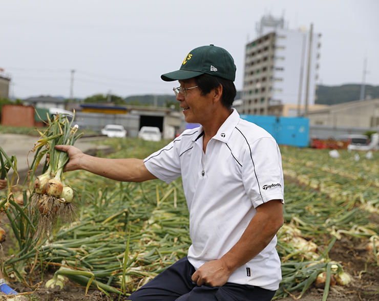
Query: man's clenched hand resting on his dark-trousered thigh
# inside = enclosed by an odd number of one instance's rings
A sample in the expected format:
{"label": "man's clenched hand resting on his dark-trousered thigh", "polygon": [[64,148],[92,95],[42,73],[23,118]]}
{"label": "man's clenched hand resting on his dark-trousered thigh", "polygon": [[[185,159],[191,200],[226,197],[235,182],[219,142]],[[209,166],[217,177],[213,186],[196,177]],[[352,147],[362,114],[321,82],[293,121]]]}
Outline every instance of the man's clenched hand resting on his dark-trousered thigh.
{"label": "man's clenched hand resting on his dark-trousered thigh", "polygon": [[208,261],[192,275],[192,281],[198,286],[203,284],[222,286],[228,281],[230,274],[231,271],[227,269],[222,259]]}

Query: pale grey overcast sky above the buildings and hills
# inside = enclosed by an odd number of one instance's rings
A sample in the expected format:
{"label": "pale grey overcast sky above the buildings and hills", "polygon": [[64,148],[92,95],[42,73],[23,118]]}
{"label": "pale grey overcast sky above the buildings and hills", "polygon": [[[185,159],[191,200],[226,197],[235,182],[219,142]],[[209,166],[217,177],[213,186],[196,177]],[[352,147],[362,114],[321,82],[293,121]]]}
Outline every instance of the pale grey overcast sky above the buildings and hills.
{"label": "pale grey overcast sky above the buildings and hills", "polygon": [[318,83],[379,84],[379,0],[0,0],[0,68],[17,98],[173,93],[162,73],[192,49],[225,48],[242,89],[245,45],[265,14],[321,33]]}

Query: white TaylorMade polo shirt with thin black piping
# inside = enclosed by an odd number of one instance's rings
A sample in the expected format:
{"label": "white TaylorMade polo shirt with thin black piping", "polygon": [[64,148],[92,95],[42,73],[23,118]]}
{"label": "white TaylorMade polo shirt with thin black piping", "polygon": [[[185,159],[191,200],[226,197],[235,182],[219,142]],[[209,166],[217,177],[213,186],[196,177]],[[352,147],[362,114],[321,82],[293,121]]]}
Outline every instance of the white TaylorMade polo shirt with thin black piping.
{"label": "white TaylorMade polo shirt with thin black piping", "polygon": [[[203,152],[203,128],[186,130],[144,160],[158,179],[182,177],[189,210],[192,245],[188,261],[198,269],[220,259],[241,238],[256,207],[270,200],[284,203],[282,159],[275,139],[236,110]],[[230,275],[228,282],[277,290],[281,263],[277,238]]]}

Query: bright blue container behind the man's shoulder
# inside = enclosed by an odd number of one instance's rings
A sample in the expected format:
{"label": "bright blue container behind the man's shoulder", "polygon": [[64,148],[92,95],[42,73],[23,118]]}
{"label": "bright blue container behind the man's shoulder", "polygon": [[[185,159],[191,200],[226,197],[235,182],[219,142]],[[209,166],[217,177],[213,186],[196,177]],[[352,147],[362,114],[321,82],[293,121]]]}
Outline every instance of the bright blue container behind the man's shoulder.
{"label": "bright blue container behind the man's shoulder", "polygon": [[304,117],[276,117],[240,115],[242,119],[263,127],[278,144],[307,147],[309,145],[309,119]]}

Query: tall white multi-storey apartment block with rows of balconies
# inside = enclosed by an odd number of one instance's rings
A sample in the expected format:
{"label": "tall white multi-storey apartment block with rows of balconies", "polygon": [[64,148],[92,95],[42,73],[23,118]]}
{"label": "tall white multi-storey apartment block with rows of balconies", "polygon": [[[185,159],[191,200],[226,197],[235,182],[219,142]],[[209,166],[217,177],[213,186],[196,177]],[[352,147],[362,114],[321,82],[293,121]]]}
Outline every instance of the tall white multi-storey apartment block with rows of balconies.
{"label": "tall white multi-storey apartment block with rows of balconies", "polygon": [[262,17],[257,32],[246,45],[240,113],[282,116],[287,106],[289,116],[298,110],[303,115],[307,90],[307,106],[315,101],[321,34],[313,33],[310,41],[309,31],[288,30],[283,18],[272,16]]}

